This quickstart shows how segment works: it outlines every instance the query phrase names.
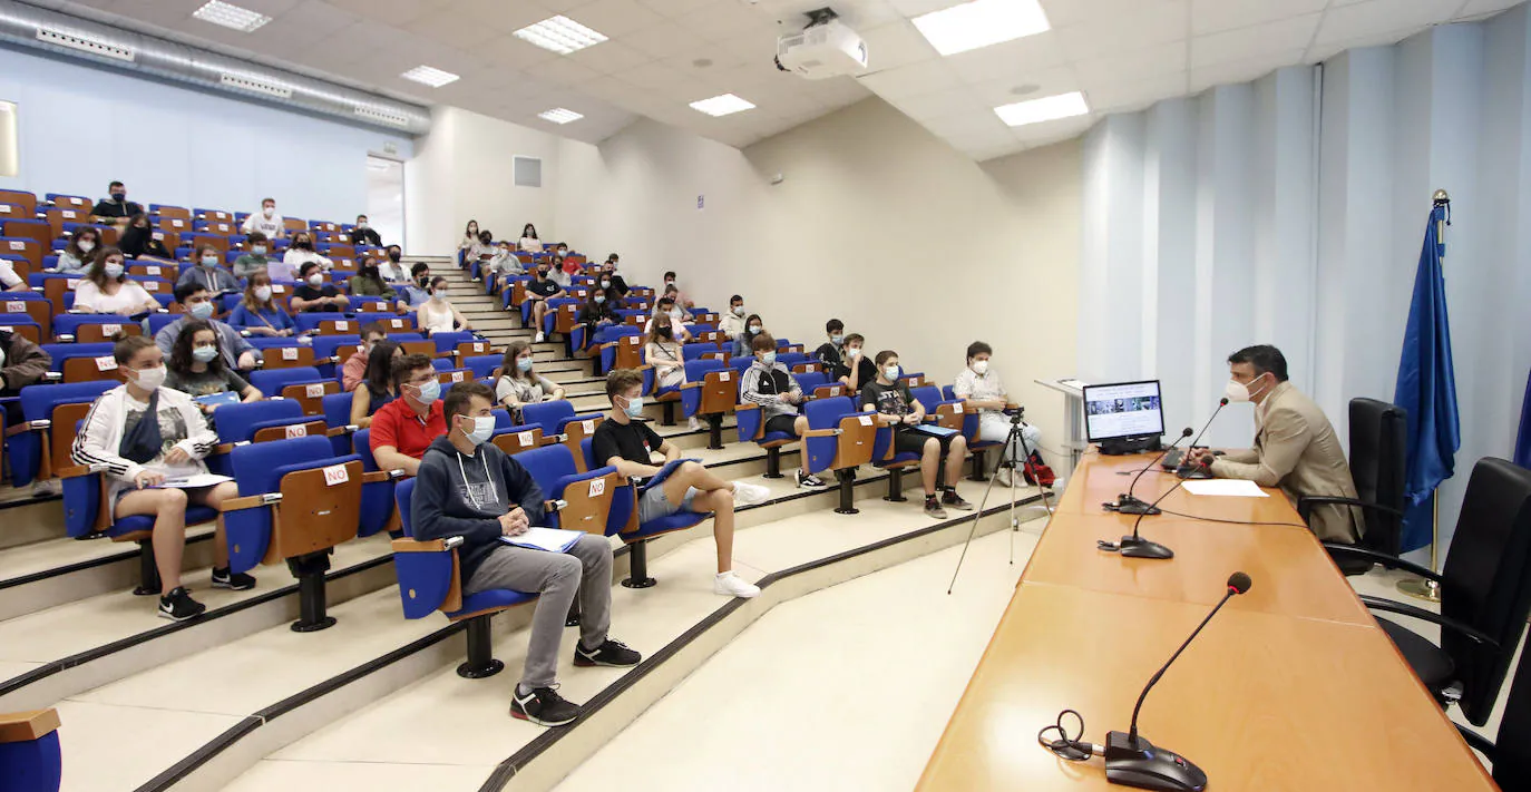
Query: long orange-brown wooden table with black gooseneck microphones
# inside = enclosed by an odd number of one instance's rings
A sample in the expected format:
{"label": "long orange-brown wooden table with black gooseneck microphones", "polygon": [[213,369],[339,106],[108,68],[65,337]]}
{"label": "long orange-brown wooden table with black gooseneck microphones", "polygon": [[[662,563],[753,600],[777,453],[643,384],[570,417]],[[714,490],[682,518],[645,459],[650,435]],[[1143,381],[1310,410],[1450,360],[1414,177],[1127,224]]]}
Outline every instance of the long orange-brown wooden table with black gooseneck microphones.
{"label": "long orange-brown wooden table with black gooseneck microphones", "polygon": [[[1056,758],[1036,731],[1063,709],[1084,715],[1089,741],[1127,731],[1144,683],[1239,570],[1252,588],[1148,695],[1144,737],[1200,764],[1209,790],[1497,789],[1278,490],[1171,493],[1170,512],[1263,524],[1145,516],[1142,536],[1170,561],[1098,550],[1134,519],[1101,502],[1150,461],[1085,453],[919,789],[1122,789],[1101,758]],[[1153,501],[1174,483],[1148,472],[1134,493]]]}

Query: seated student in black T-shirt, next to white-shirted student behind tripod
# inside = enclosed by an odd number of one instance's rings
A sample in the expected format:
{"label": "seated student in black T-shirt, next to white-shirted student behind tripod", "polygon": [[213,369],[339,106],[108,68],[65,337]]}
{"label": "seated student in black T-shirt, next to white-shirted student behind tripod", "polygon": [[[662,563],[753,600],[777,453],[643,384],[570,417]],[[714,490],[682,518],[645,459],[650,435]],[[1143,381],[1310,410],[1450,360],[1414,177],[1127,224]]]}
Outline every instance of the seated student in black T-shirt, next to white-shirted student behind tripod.
{"label": "seated student in black T-shirt, next to white-shirted student behind tripod", "polygon": [[[848,342],[848,339],[847,339]],[[877,352],[877,377],[862,385],[860,404],[865,412],[876,412],[893,426],[893,452],[919,453],[920,483],[925,486],[925,513],[935,519],[946,519],[942,506],[971,512],[972,504],[957,495],[957,479],[961,478],[961,463],[968,457],[968,441],[961,434],[935,438],[919,432],[916,427],[925,420],[925,404],[909,394],[909,386],[899,380],[899,352],[885,349]],[[945,493],[937,499],[935,473],[946,455]]]}

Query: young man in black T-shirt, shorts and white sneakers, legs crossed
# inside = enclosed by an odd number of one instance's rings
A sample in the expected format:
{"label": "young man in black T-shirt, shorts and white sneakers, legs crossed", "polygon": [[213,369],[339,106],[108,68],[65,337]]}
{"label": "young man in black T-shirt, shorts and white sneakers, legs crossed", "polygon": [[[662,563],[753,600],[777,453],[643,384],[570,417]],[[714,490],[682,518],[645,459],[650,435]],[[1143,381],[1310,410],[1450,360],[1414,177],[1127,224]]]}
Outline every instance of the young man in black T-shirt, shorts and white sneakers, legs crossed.
{"label": "young man in black T-shirt, shorts and white sneakers, legs crossed", "polygon": [[[606,375],[611,412],[596,427],[591,453],[597,464],[615,466],[626,478],[648,478],[660,472],[654,453],[666,463],[680,460],[680,449],[661,438],[638,418],[643,415],[643,374],[612,369]],[[718,576],[712,590],[735,597],[753,597],[759,587],[733,573],[733,506],[752,506],[770,498],[770,490],[744,481],[724,481],[698,463],[681,463],[657,487],[638,499],[638,519],[648,522],[683,509],[712,512],[712,539],[718,545]]]}

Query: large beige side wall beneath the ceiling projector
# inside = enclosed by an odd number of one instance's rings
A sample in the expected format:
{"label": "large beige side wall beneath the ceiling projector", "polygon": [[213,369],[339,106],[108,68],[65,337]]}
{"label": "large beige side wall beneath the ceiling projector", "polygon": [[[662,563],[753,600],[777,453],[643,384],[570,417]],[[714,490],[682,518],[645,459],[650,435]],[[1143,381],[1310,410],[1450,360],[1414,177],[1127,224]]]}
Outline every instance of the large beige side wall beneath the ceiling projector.
{"label": "large beige side wall beneath the ceiling projector", "polygon": [[839,317],[942,383],[987,340],[1061,441],[1063,398],[1032,380],[1075,372],[1078,141],[975,164],[867,100],[743,152],[638,121],[599,147],[565,141],[559,167],[560,233],[620,253],[629,279],[675,270],[710,308],[739,293],[810,345]]}

